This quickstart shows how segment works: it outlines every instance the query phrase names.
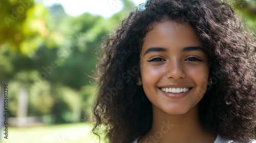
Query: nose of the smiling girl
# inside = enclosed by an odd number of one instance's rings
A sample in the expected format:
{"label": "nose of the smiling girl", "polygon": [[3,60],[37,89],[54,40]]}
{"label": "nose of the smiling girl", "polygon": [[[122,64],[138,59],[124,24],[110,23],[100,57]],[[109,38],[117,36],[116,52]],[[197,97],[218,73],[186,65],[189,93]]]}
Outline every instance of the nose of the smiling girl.
{"label": "nose of the smiling girl", "polygon": [[178,60],[170,61],[166,68],[166,77],[168,79],[178,80],[186,77],[183,65],[181,62],[178,62]]}

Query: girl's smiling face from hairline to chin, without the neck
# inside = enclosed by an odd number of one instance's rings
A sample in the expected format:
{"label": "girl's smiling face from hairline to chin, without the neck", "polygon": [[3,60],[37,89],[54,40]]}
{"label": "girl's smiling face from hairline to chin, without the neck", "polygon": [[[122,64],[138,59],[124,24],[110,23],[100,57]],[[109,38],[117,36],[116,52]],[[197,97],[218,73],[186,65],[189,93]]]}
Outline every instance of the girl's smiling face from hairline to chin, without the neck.
{"label": "girl's smiling face from hairline to chin, without the neck", "polygon": [[141,82],[153,108],[184,114],[203,98],[209,66],[202,43],[190,25],[155,22],[140,53]]}

